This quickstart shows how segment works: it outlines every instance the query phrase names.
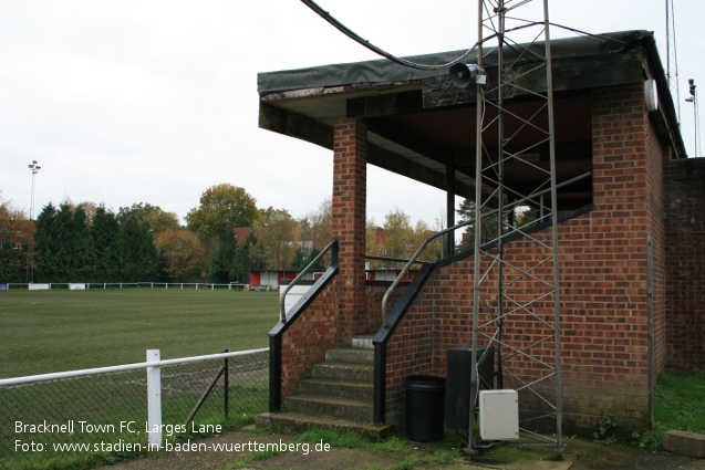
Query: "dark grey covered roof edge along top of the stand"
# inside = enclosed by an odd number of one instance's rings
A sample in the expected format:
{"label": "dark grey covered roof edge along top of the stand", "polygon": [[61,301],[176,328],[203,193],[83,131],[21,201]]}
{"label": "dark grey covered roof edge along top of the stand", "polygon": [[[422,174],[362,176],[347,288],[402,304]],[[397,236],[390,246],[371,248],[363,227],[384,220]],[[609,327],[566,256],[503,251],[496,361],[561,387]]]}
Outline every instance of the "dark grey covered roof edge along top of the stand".
{"label": "dark grey covered roof edge along top of the stand", "polygon": [[[634,30],[556,39],[551,41],[551,54],[553,59],[561,59],[616,53],[647,36],[653,36],[653,33],[645,30]],[[543,42],[533,43],[531,46],[542,49]],[[428,65],[445,64],[462,56],[465,52],[440,52],[405,59]],[[505,60],[510,61],[512,53],[514,51],[507,48],[505,50]],[[473,63],[476,58],[477,54],[471,53],[465,62]],[[494,63],[491,56],[486,56],[485,63],[491,66]],[[447,70],[423,71],[400,65],[387,59],[377,59],[365,62],[262,72],[257,74],[257,91],[260,95],[263,95],[291,90],[342,86],[354,83],[398,83],[428,79],[446,73]]]}

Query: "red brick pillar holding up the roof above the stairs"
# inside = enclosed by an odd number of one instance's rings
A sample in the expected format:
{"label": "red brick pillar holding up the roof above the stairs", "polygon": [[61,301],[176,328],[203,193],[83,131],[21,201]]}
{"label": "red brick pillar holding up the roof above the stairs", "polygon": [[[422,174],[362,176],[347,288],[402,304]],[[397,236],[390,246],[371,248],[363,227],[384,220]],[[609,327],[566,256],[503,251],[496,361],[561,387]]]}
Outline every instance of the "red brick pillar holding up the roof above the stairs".
{"label": "red brick pillar holding up the roof above the stairs", "polygon": [[339,240],[339,344],[352,343],[365,315],[365,205],[367,127],[355,118],[334,123],[333,239]]}

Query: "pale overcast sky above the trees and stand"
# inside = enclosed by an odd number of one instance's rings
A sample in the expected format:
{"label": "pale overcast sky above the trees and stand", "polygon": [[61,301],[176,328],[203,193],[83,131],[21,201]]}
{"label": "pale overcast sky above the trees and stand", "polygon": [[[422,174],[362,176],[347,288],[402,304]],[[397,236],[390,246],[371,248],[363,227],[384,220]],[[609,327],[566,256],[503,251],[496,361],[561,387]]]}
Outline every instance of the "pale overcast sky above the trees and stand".
{"label": "pale overcast sky above the trees and stand", "polygon": [[[538,3],[539,0],[535,0]],[[684,142],[687,80],[705,86],[705,2],[675,1]],[[320,0],[395,55],[469,48],[476,0]],[[665,0],[552,0],[551,21],[592,33],[654,31],[666,62]],[[552,36],[568,33],[553,31]],[[258,128],[257,73],[379,59],[297,0],[0,0],[0,196],[148,202],[186,216],[208,187],[302,217],[330,197],[332,154]],[[434,226],[442,191],[369,167],[367,216],[395,207]]]}

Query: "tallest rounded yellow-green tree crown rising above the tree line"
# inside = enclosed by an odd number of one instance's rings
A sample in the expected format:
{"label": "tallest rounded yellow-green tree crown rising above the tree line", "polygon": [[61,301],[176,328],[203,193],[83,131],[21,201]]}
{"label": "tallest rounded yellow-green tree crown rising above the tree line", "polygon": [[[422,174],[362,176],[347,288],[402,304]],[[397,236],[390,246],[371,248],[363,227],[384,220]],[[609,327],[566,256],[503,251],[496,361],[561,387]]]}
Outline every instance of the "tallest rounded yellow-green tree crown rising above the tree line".
{"label": "tallest rounded yellow-green tree crown rising above the tree line", "polygon": [[245,188],[211,186],[201,195],[198,207],[186,215],[187,227],[204,239],[220,238],[235,227],[252,227],[259,217],[256,202]]}

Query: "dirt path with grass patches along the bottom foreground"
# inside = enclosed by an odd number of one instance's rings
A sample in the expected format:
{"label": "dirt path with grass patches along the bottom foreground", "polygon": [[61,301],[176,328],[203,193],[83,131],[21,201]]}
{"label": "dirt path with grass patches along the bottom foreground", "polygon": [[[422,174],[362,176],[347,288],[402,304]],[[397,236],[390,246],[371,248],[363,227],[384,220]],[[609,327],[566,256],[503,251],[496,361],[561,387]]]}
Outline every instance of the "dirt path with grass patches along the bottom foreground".
{"label": "dirt path with grass patches along the bottom foreground", "polygon": [[[296,436],[277,434],[265,435],[255,431],[232,431],[190,442],[194,449],[179,449],[166,455],[147,456],[120,462],[100,470],[194,470],[194,469],[317,469],[317,470],[357,470],[387,469],[414,457],[433,455],[435,446],[408,443],[408,448],[398,452],[376,452],[363,449],[324,449],[325,443],[299,445]],[[286,451],[270,455],[263,460],[252,460],[255,450],[287,447]],[[292,447],[294,446],[294,447]],[[447,446],[447,443],[446,443]],[[517,453],[518,452],[518,453]],[[421,468],[421,467],[419,467]],[[424,466],[436,470],[705,470],[705,460],[676,456],[663,451],[647,451],[628,445],[601,445],[581,439],[566,439],[563,460],[551,460],[551,451],[511,451],[489,450],[475,461],[465,457],[452,463]]]}

